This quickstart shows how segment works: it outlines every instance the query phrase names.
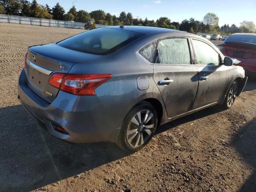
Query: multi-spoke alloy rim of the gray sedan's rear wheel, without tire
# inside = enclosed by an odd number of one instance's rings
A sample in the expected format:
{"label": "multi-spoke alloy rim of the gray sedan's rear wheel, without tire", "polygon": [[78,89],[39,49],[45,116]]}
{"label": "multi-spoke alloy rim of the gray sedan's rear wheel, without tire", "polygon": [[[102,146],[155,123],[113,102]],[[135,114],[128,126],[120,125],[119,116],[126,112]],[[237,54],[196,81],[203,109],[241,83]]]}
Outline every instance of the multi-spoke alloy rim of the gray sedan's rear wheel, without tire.
{"label": "multi-spoke alloy rim of the gray sedan's rear wheel, without tire", "polygon": [[150,110],[141,110],[132,118],[128,130],[127,141],[133,147],[144,144],[152,135],[155,126],[154,114]]}

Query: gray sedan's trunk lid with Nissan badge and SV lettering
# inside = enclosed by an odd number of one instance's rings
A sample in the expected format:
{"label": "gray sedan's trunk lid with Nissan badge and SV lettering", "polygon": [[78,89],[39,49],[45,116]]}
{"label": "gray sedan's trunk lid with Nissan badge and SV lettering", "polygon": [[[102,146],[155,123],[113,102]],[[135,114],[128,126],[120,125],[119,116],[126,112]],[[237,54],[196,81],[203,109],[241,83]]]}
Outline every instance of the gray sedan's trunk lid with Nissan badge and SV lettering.
{"label": "gray sedan's trunk lid with Nissan badge and SV lettering", "polygon": [[38,96],[51,103],[59,91],[48,83],[52,74],[68,73],[75,63],[101,57],[70,50],[56,43],[29,47],[25,70],[27,84]]}

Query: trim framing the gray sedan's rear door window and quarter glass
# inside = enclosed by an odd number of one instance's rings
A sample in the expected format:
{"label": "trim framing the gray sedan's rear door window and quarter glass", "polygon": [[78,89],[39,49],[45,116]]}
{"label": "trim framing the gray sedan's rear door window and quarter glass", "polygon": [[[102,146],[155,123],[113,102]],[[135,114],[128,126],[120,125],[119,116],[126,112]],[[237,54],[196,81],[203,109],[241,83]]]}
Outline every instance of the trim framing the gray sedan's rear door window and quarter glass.
{"label": "trim framing the gray sedan's rear door window and quarter glass", "polygon": [[[158,63],[155,63],[156,61],[156,50],[158,48],[158,42],[159,40],[161,39],[168,39],[168,38],[186,38],[188,40],[188,48],[190,50],[190,64],[158,64]],[[194,52],[193,52],[193,47],[192,47],[192,42],[190,40],[191,36],[164,36],[164,37],[159,37],[159,38],[156,38],[146,44],[144,44],[141,48],[139,48],[137,51],[136,51],[136,54],[142,58],[142,60],[144,60],[145,62],[147,62],[148,64],[151,64],[151,65],[185,65],[185,66],[190,66],[190,65],[193,65],[195,64],[195,60],[194,60]],[[154,62],[153,63],[150,63],[148,60],[146,60],[140,53],[139,51],[144,48],[144,46],[147,46],[148,44],[152,43],[153,41],[157,41],[156,42],[156,50],[155,50],[155,54],[154,54]]]}

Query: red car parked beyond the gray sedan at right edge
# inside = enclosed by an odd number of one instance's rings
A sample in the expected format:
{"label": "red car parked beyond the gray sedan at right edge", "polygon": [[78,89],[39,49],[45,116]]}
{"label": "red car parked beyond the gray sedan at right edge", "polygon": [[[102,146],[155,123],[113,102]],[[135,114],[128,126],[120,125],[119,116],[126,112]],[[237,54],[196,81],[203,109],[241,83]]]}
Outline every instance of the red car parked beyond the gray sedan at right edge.
{"label": "red car parked beyond the gray sedan at right edge", "polygon": [[246,72],[256,72],[256,34],[235,33],[217,46],[224,56],[240,60]]}

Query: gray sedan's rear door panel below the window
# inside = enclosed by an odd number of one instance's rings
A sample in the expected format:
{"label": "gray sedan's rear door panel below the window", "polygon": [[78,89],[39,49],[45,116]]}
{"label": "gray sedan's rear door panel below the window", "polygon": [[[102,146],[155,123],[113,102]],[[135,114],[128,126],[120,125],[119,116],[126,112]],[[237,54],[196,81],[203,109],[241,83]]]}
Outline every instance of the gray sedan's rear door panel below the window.
{"label": "gray sedan's rear door panel below the window", "polygon": [[[161,80],[173,80],[168,85]],[[198,70],[195,65],[156,65],[154,81],[162,95],[168,118],[192,110],[198,88]]]}

